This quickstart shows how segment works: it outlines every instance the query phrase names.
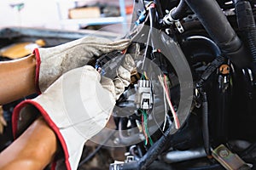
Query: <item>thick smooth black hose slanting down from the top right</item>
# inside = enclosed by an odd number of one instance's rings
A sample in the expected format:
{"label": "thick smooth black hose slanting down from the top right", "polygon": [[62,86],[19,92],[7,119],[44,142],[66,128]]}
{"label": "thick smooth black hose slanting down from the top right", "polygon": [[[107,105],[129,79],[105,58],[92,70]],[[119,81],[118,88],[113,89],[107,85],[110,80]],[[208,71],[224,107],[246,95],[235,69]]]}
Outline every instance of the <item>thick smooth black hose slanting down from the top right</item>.
{"label": "thick smooth black hose slanting down from the top right", "polygon": [[[250,54],[242,44],[236,32],[230,26],[223,11],[216,1],[212,0],[185,0],[197,15],[213,41],[218,44],[221,51],[239,67],[250,65]],[[212,17],[212,14],[214,16]],[[218,29],[216,29],[218,26]]]}

